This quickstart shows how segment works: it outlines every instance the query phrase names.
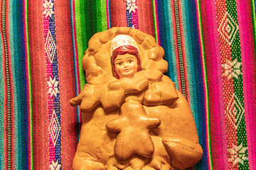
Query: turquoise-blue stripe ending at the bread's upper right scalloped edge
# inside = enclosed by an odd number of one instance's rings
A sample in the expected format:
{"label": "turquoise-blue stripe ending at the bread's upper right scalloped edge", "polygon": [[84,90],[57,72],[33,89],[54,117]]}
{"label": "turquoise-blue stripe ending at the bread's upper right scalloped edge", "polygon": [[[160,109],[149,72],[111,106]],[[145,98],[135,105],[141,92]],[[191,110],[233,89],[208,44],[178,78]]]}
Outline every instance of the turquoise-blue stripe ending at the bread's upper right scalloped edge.
{"label": "turquoise-blue stripe ending at the bread's upper right scalloped edge", "polygon": [[164,37],[164,58],[169,63],[168,72],[166,75],[171,78],[172,81],[176,84],[176,89],[178,89],[178,77],[177,77],[177,69],[176,69],[176,58],[175,58],[175,50],[174,50],[174,31],[172,25],[172,15],[171,15],[171,1],[164,0],[164,3],[161,3],[161,17],[163,21],[163,37]]}

